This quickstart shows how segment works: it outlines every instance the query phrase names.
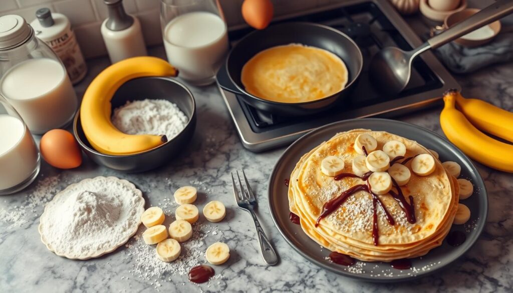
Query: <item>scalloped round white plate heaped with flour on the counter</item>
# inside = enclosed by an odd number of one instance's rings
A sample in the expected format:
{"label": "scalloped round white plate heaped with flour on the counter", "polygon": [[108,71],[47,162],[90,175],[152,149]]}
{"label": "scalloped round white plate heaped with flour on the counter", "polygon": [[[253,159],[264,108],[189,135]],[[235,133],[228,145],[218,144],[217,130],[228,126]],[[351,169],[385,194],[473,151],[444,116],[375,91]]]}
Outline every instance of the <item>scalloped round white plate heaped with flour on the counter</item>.
{"label": "scalloped round white plate heaped with flour on the counter", "polygon": [[145,201],[141,190],[115,177],[71,184],[45,206],[41,241],[56,255],[87,260],[125,244],[141,224]]}

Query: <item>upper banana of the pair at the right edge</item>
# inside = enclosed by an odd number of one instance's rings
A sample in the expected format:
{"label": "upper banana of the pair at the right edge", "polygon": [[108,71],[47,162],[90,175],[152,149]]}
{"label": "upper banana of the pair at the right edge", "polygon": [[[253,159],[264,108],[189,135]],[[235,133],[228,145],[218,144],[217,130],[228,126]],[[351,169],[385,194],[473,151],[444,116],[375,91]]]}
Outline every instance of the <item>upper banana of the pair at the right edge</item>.
{"label": "upper banana of the pair at the right edge", "polygon": [[459,92],[456,104],[478,129],[513,142],[513,113],[478,99],[465,99]]}

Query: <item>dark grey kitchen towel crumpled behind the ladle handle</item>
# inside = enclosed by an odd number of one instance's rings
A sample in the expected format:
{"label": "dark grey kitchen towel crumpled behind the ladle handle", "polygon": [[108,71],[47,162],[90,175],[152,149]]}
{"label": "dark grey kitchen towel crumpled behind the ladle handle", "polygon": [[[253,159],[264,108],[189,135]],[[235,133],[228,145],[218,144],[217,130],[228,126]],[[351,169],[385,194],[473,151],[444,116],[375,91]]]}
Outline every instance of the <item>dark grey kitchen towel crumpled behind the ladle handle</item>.
{"label": "dark grey kitchen towel crumpled behind the ladle handle", "polygon": [[451,42],[435,50],[435,54],[453,73],[469,73],[483,67],[513,61],[513,27],[502,27],[490,43],[467,48]]}

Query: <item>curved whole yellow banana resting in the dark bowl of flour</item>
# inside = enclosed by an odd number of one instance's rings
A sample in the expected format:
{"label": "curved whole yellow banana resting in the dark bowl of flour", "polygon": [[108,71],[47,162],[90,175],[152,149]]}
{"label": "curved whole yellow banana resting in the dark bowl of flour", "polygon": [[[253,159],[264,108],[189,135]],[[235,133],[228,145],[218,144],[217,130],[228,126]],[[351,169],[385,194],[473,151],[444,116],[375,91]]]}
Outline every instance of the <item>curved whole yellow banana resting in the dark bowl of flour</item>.
{"label": "curved whole yellow banana resting in the dark bowl of flour", "polygon": [[105,154],[128,155],[160,146],[165,135],[130,135],[111,122],[110,100],[120,86],[136,77],[176,76],[178,71],[156,57],[133,57],[117,62],[100,72],[91,82],[80,106],[82,129],[91,146]]}

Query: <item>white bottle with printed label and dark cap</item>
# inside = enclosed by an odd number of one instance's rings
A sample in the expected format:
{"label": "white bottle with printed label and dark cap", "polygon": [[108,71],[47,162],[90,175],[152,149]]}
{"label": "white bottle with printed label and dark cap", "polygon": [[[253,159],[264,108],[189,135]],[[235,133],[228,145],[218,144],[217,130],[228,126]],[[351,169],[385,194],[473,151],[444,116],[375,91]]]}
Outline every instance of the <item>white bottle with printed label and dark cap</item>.
{"label": "white bottle with printed label and dark cap", "polygon": [[68,17],[61,13],[51,13],[48,8],[38,9],[35,16],[37,19],[30,23],[35,36],[61,58],[71,83],[80,82],[86,76],[87,66]]}

